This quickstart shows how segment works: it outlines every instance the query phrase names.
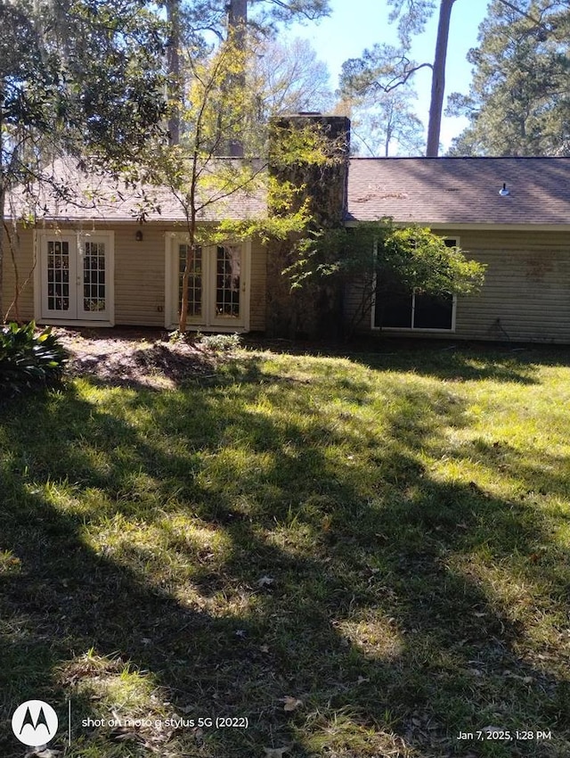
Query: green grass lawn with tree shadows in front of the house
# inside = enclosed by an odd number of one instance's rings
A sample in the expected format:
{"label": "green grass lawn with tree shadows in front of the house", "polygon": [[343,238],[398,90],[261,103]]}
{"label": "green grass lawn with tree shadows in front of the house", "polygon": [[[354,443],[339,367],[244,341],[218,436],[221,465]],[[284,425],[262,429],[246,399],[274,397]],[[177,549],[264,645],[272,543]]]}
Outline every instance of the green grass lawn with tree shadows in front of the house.
{"label": "green grass lawn with tree shadows in front of the house", "polygon": [[568,351],[380,350],[4,404],[4,758],[570,754]]}

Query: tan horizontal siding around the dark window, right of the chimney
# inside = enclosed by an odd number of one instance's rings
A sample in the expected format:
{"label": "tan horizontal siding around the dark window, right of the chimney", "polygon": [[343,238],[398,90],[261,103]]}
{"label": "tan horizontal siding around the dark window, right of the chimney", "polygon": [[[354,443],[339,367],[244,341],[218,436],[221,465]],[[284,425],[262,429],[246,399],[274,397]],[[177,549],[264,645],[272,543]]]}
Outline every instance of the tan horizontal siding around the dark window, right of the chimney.
{"label": "tan horizontal siding around the dark window, right of the chimney", "polygon": [[[454,232],[468,258],[487,265],[481,292],[458,298],[455,332],[409,330],[385,335],[517,342],[570,342],[570,238],[564,233]],[[359,288],[346,294],[346,317],[353,317]],[[370,310],[358,331],[370,331]]]}

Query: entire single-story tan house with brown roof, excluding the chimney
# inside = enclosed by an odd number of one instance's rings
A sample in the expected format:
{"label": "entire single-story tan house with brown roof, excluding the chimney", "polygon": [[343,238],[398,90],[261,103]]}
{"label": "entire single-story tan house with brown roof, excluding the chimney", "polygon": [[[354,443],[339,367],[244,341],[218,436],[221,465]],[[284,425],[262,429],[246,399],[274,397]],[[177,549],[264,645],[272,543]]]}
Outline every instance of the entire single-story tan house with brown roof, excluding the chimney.
{"label": "entire single-story tan house with brown roof, excluding the chimney", "polygon": [[[180,205],[165,190],[106,177],[71,182],[71,192],[40,202],[34,225],[20,227],[13,260],[4,255],[4,313],[15,316],[18,290],[22,320],[174,328],[186,253]],[[488,267],[476,295],[377,301],[358,331],[570,342],[570,158],[353,158],[324,184],[334,182],[329,199],[347,226],[385,217],[428,226]],[[265,213],[265,201],[233,195],[217,206],[222,213],[251,218]],[[205,246],[191,271],[189,327],[274,333],[278,278],[259,241]],[[346,321],[360,298],[357,283],[347,288]]]}

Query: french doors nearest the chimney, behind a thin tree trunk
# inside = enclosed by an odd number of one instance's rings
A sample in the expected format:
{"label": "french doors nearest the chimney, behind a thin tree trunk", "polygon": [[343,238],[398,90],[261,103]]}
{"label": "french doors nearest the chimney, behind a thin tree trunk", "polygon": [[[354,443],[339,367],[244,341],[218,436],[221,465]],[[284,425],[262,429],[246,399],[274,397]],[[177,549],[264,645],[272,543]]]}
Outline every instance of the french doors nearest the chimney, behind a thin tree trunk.
{"label": "french doors nearest the chimney, behind a thin tree trunk", "polygon": [[[172,260],[170,315],[178,322],[182,305],[183,273],[188,244],[175,238]],[[187,323],[220,331],[240,331],[248,326],[248,245],[224,244],[197,248],[191,253],[188,279]]]}

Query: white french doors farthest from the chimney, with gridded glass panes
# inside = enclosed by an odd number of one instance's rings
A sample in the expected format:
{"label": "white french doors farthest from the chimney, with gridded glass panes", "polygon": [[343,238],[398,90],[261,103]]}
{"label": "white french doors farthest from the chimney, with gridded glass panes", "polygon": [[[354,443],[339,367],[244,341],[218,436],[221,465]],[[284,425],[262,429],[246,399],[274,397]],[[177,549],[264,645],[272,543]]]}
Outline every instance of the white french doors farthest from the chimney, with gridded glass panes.
{"label": "white french doors farthest from the chimney, with gridded glass panes", "polygon": [[112,317],[112,235],[40,235],[41,317],[102,321]]}

